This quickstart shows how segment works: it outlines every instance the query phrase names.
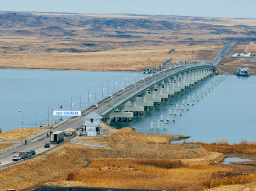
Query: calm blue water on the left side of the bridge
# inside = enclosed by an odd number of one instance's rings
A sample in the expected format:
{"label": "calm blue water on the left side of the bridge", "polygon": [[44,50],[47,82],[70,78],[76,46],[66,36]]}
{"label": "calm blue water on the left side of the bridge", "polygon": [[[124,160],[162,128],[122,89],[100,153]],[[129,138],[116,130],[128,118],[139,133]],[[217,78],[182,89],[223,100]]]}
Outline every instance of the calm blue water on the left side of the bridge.
{"label": "calm blue water on the left side of the bridge", "polygon": [[[142,73],[135,73],[135,77]],[[3,132],[21,128],[21,117],[23,124],[35,124],[35,112],[37,113],[37,124],[48,118],[51,109],[58,110],[62,105],[63,111],[80,108],[80,93],[89,88],[90,100],[93,103],[96,99],[108,94],[108,80],[110,80],[111,93],[129,82],[133,82],[134,73],[124,72],[90,72],[90,71],[42,71],[42,70],[18,70],[0,69],[0,128]],[[116,77],[115,80],[113,80]],[[129,79],[131,77],[131,79]],[[95,93],[96,86],[96,93]],[[96,96],[95,96],[96,94]],[[78,96],[77,96],[78,95]],[[96,98],[95,98],[96,97]],[[65,101],[63,101],[65,100]],[[88,91],[81,94],[81,107],[88,104]],[[20,113],[17,111],[20,109]],[[44,111],[41,111],[44,110]],[[61,110],[61,108],[59,108]],[[49,114],[50,116],[50,114]],[[53,120],[58,120],[54,117]],[[43,122],[44,126],[47,122]],[[35,125],[23,125],[23,127],[35,127]],[[38,125],[39,127],[39,125]]]}

